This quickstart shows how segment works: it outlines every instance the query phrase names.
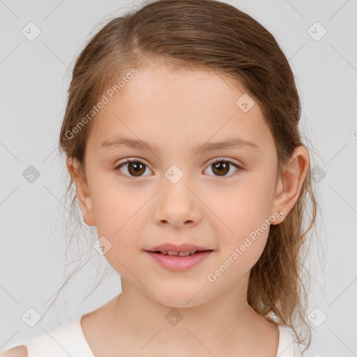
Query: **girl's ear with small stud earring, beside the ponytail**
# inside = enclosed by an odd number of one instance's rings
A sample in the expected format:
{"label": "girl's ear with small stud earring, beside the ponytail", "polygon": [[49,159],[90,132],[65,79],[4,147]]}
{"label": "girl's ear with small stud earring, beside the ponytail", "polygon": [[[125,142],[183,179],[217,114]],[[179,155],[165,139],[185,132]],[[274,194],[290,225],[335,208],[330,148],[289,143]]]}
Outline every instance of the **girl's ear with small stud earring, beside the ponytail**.
{"label": "girl's ear with small stud earring, beside the ponytail", "polygon": [[309,153],[305,146],[297,146],[291,154],[288,164],[284,167],[282,176],[278,177],[275,186],[271,215],[274,215],[275,212],[274,216],[277,217],[277,211],[282,211],[284,215],[279,215],[274,222],[271,222],[272,225],[281,223],[298,201],[309,165]]}

